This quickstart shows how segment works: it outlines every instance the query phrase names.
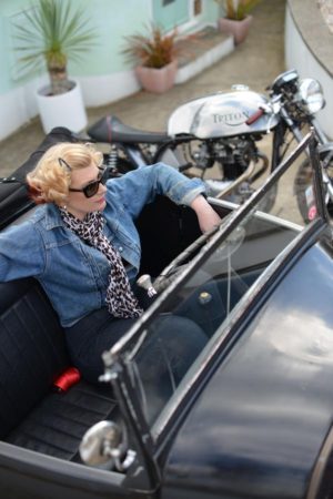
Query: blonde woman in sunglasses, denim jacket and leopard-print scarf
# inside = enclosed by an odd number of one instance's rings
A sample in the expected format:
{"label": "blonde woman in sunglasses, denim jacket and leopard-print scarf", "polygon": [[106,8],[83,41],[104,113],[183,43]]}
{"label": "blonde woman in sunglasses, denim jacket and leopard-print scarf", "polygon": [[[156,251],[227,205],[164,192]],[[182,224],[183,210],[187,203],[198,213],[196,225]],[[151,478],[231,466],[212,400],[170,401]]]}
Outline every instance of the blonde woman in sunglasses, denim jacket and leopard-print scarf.
{"label": "blonde woman in sunglasses, denim jacket and leopard-print scarf", "polygon": [[[40,282],[65,329],[73,364],[92,381],[102,371],[101,353],[142,314],[131,283],[141,257],[134,221],[143,206],[163,194],[191,206],[203,232],[220,222],[199,180],[162,163],[108,180],[102,160],[89,144],[50,147],[27,176],[40,206],[0,234],[0,281]],[[203,333],[189,319],[172,320],[188,328],[182,336],[191,338],[194,355]]]}

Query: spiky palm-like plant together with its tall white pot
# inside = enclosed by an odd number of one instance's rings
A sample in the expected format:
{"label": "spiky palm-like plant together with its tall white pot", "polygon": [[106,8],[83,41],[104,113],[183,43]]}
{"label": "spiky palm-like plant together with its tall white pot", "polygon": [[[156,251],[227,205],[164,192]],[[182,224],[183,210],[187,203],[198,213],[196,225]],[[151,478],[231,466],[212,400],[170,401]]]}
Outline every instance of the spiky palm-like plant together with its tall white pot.
{"label": "spiky palm-like plant together with its tall white pot", "polygon": [[69,0],[39,0],[22,12],[24,22],[16,26],[16,45],[26,73],[48,70],[50,84],[37,91],[37,103],[48,133],[54,126],[79,132],[87,114],[78,81],[69,80],[68,60],[80,60],[95,37],[81,8]]}

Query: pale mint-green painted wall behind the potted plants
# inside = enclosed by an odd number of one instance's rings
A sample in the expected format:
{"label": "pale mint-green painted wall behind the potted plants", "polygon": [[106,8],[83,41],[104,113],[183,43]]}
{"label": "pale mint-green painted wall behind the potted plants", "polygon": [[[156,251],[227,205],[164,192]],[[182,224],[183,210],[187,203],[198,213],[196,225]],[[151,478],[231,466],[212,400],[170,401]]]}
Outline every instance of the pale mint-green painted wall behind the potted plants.
{"label": "pale mint-green painted wall behind the potted plants", "polygon": [[[61,0],[65,1],[65,0]],[[99,77],[127,70],[130,65],[120,53],[123,37],[144,32],[152,21],[154,6],[162,0],[70,0],[73,6],[82,6],[91,23],[97,27],[97,44],[87,52],[80,63],[69,62],[72,77]],[[188,4],[189,0],[178,0]],[[36,4],[37,0],[0,0],[0,95],[29,81],[19,75],[20,64],[12,49],[12,16]],[[184,10],[184,9],[182,9]],[[218,4],[214,0],[203,0],[204,22],[215,22]],[[167,9],[165,9],[167,12]],[[165,24],[168,20],[165,19]],[[38,77],[40,74],[36,74]],[[31,79],[31,78],[30,78]]]}

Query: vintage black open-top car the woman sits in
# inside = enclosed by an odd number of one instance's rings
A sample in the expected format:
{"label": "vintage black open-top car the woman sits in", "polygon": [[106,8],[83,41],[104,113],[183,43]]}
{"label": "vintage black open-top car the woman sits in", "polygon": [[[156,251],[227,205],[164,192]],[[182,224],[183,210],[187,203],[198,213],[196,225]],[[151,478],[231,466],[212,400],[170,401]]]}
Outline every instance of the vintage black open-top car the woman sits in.
{"label": "vintage black open-top car the woman sits in", "polygon": [[[1,230],[29,216],[24,175],[59,140],[75,138],[56,129],[0,184]],[[261,211],[304,152],[305,227]],[[244,205],[210,202],[223,220],[204,236],[164,198],[138,220],[141,274],[162,274],[160,293],[104,354],[100,386],[54,389],[71,360],[47,296],[33,278],[0,284],[1,498],[333,497],[332,228],[313,138]],[[206,333],[180,383],[137,361],[161,314]]]}

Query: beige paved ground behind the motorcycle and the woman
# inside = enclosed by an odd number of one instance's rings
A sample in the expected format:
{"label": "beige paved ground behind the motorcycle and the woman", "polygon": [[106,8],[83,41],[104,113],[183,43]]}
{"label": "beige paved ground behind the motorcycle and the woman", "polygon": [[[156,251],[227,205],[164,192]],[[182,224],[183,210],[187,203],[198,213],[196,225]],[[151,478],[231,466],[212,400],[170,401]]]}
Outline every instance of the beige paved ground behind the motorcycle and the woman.
{"label": "beige paved ground behind the motorcycle and the woman", "polygon": [[[249,38],[229,57],[162,95],[140,91],[119,102],[88,109],[89,124],[112,113],[132,126],[162,131],[171,111],[190,99],[229,90],[234,83],[246,83],[253,90],[264,91],[284,70],[284,9],[285,0],[263,0],[253,11]],[[36,118],[0,142],[0,176],[20,166],[43,136]]]}

